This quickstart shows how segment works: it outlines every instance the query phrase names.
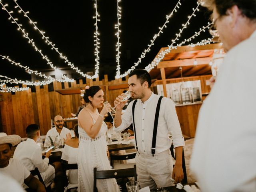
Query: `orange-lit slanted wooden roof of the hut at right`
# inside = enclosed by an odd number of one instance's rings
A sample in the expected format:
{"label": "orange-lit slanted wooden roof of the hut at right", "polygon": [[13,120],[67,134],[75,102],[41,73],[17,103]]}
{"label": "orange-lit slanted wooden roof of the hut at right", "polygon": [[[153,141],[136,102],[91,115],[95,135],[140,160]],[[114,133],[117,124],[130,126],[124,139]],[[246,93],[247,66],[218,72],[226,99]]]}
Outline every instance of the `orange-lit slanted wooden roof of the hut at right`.
{"label": "orange-lit slanted wooden roof of the hut at right", "polygon": [[[158,54],[167,48],[161,48]],[[164,56],[158,66],[150,71],[150,76],[152,79],[162,79],[160,69],[164,68],[166,79],[178,78],[181,77],[180,66],[182,67],[183,77],[212,74],[209,62],[212,60],[216,48],[222,48],[222,45],[214,43],[195,47],[178,47]],[[195,60],[196,65],[194,65]]]}

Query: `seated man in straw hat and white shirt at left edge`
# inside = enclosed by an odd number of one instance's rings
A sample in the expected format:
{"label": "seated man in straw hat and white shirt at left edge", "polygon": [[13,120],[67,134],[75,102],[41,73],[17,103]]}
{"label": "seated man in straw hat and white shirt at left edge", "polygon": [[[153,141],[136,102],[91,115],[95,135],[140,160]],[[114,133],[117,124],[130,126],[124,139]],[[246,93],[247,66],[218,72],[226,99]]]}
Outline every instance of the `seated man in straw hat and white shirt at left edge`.
{"label": "seated man in straw hat and white shirt at left edge", "polygon": [[20,160],[11,158],[12,146],[17,145],[19,142],[21,142],[21,138],[18,135],[0,133],[0,174],[10,176],[20,186],[26,184],[29,188],[37,192],[46,192],[44,185],[32,176]]}

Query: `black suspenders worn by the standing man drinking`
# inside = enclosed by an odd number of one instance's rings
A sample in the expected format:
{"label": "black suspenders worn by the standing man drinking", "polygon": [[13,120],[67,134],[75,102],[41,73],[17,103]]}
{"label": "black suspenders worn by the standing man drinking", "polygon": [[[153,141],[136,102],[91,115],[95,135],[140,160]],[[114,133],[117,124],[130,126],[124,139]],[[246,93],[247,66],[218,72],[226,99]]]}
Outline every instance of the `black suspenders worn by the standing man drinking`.
{"label": "black suspenders worn by the standing man drinking", "polygon": [[[156,152],[156,133],[157,133],[158,117],[159,117],[160,104],[161,104],[162,98],[163,98],[163,96],[160,96],[160,98],[158,99],[157,106],[156,106],[156,114],[155,114],[155,121],[154,121],[154,130],[153,130],[153,139],[152,139],[152,147],[151,147],[151,153],[152,153],[153,157],[154,157],[154,154]],[[132,120],[133,120],[133,129],[134,129],[136,150],[138,151],[135,123],[134,123],[134,109],[135,109],[136,102],[137,102],[137,100],[135,100],[132,104]]]}

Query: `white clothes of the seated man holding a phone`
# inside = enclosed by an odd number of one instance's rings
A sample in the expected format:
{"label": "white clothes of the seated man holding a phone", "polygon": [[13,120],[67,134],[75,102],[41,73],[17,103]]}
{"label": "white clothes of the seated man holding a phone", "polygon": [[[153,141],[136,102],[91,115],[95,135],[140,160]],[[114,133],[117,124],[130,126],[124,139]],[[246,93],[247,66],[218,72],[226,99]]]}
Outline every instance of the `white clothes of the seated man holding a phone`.
{"label": "white clothes of the seated man holding a phone", "polygon": [[13,158],[21,160],[29,171],[37,167],[46,187],[54,180],[54,167],[49,165],[49,158],[42,159],[41,147],[38,146],[33,139],[28,138],[26,141],[18,144],[14,151]]}

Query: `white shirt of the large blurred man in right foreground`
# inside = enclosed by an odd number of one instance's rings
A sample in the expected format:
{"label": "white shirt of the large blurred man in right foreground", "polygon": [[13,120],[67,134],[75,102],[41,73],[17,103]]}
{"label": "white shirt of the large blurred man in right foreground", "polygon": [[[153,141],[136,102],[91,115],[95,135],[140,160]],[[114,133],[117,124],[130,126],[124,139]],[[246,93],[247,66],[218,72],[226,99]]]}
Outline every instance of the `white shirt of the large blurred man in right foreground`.
{"label": "white shirt of the large blurred man in right foreground", "polygon": [[206,192],[256,191],[256,31],[226,54],[198,116],[190,168]]}

